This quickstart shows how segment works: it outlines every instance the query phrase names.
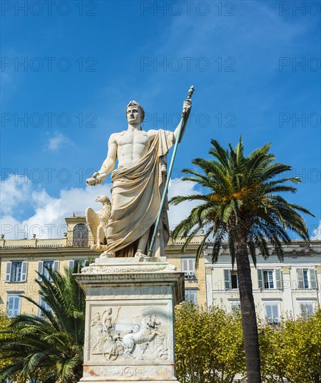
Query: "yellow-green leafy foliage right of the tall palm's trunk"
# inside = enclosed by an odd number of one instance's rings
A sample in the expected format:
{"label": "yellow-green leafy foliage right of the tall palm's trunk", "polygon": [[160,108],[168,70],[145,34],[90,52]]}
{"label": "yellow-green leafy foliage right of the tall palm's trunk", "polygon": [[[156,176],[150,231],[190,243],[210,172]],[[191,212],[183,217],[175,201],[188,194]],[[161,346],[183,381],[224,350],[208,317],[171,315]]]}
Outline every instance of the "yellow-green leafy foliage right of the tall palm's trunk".
{"label": "yellow-green leafy foliage right of the tall palm's trunk", "polygon": [[321,383],[321,309],[280,327],[259,326],[262,375],[266,383]]}

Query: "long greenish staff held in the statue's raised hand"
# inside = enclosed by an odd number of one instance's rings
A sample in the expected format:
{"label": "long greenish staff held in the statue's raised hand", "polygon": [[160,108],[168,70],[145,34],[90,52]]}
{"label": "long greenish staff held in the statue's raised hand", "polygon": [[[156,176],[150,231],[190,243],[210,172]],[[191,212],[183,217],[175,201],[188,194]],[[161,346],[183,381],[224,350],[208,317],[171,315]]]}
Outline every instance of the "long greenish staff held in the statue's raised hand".
{"label": "long greenish staff held in the statue's raised hand", "polygon": [[[189,91],[188,91],[187,100],[190,100],[193,93],[194,93],[194,86],[191,86]],[[182,136],[183,132],[185,132],[185,130],[186,130],[186,124],[187,124],[189,116],[190,116],[190,109],[188,109],[188,111],[186,111],[186,109],[184,108],[183,113],[181,114],[181,120],[179,121],[179,133],[177,134],[177,137],[175,140],[173,155],[172,155],[172,159],[170,160],[170,168],[168,169],[167,180],[165,183],[164,192],[163,192],[163,196],[161,199],[161,205],[159,207],[159,211],[158,211],[158,215],[157,215],[157,219],[156,219],[156,223],[155,223],[155,227],[154,227],[154,233],[153,233],[153,236],[151,237],[151,244],[149,246],[149,251],[147,254],[147,256],[149,256],[149,257],[151,257],[152,253],[154,253],[154,244],[155,244],[155,240],[156,240],[157,230],[158,230],[158,226],[159,226],[159,221],[161,221],[161,215],[163,212],[163,206],[164,206],[165,199],[167,196],[168,185],[170,185],[170,175],[172,173],[177,147],[179,146],[179,143],[181,142],[181,136]]]}

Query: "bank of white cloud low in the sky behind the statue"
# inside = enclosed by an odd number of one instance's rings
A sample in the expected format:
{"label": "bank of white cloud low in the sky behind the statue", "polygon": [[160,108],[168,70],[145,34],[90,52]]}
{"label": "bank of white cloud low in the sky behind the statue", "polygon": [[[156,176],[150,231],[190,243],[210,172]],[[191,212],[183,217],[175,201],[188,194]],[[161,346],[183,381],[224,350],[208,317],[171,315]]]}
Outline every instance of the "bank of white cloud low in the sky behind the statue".
{"label": "bank of white cloud low in the sky behind the statue", "polygon": [[[50,196],[45,189],[33,186],[32,182],[22,176],[10,177],[1,187],[1,233],[6,239],[22,239],[62,237],[66,231],[65,218],[72,217],[73,212],[84,212],[91,206],[99,210],[100,205],[94,203],[99,194],[110,196],[110,184],[104,183],[95,187],[63,189],[58,198]],[[183,182],[176,178],[171,180],[168,197],[195,194],[193,182]],[[170,205],[170,227],[174,228],[186,218],[197,202],[183,202],[178,206]],[[15,212],[32,206],[33,213],[27,219],[17,219]]]}

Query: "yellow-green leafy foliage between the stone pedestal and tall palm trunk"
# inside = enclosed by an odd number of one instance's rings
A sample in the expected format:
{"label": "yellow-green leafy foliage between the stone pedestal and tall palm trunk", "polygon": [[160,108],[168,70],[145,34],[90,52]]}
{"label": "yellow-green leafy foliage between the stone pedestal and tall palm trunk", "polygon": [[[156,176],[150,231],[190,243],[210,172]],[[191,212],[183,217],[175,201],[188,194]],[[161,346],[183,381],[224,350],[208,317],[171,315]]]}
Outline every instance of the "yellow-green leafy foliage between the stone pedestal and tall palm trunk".
{"label": "yellow-green leafy foliage between the stone pedestal and tall palm trunk", "polygon": [[240,313],[184,302],[175,311],[176,369],[181,383],[229,383],[245,373]]}

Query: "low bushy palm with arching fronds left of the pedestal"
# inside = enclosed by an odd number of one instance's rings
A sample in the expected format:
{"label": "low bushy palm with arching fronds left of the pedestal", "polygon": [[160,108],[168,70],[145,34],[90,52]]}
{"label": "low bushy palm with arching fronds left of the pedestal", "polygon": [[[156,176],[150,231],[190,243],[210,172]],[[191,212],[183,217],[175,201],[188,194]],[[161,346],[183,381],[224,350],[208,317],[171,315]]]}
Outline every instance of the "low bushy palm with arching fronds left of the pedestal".
{"label": "low bushy palm with arching fronds left of the pedestal", "polygon": [[8,363],[0,380],[19,376],[22,381],[73,383],[83,376],[85,295],[72,276],[76,267],[65,269],[65,275],[51,269],[49,276],[38,273],[43,303],[23,297],[41,315],[18,315],[1,331],[0,355]]}

